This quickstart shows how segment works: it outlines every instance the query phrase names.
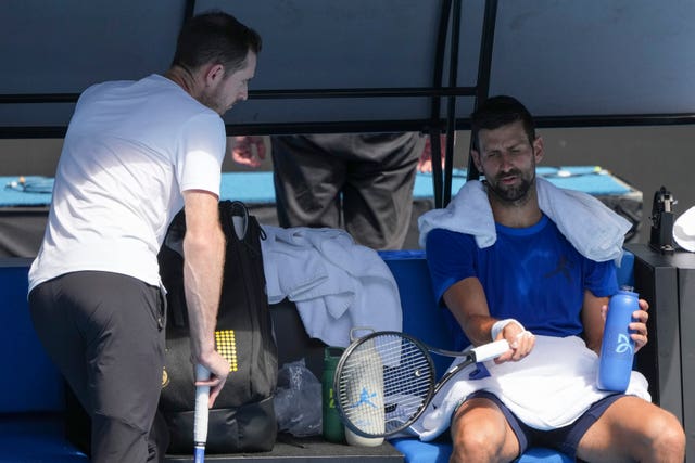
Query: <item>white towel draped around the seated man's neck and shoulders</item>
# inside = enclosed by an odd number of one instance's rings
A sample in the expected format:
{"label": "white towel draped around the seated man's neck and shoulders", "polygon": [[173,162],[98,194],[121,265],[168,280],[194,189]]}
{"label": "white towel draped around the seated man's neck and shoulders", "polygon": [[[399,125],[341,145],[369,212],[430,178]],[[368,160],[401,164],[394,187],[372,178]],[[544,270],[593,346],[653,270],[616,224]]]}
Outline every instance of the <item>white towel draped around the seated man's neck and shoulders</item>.
{"label": "white towel draped around the seated man's neck and shoulders", "polygon": [[[536,177],[539,207],[584,257],[620,263],[624,235],[632,227],[594,196],[555,187]],[[471,234],[478,247],[492,246],[497,240],[495,222],[482,182],[467,181],[443,209],[432,209],[418,218],[419,244],[425,247],[427,233],[441,228]]]}

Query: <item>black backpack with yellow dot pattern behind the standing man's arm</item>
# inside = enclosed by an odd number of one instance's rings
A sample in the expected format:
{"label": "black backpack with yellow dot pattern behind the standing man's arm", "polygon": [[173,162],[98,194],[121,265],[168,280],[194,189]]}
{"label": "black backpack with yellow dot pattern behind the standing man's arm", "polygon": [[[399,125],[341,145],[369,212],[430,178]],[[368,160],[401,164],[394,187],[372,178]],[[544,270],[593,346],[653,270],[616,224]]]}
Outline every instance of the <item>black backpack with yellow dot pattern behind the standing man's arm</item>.
{"label": "black backpack with yellow dot pattern behind the standing man's arm", "polygon": [[[230,363],[222,393],[210,410],[207,453],[268,451],[277,436],[273,403],[277,385],[277,345],[261,254],[263,230],[243,203],[219,203],[227,239],[215,347]],[[166,364],[160,411],[172,433],[168,453],[191,453],[195,387],[190,361],[184,292],[182,241],[186,218],[172,221],[160,250],[167,294]]]}

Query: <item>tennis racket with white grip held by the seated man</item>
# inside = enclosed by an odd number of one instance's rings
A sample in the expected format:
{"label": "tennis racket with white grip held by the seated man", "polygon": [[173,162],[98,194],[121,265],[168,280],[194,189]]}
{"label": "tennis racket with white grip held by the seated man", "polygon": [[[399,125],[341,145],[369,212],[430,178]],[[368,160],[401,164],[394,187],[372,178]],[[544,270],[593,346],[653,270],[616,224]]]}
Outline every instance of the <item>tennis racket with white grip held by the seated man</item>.
{"label": "tennis racket with white grip held by the seated man", "polygon": [[[466,366],[509,349],[496,340],[463,352],[430,347],[404,333],[376,332],[353,342],[341,356],[333,390],[343,423],[363,437],[389,437],[410,426],[432,397]],[[429,352],[462,358],[437,382]]]}

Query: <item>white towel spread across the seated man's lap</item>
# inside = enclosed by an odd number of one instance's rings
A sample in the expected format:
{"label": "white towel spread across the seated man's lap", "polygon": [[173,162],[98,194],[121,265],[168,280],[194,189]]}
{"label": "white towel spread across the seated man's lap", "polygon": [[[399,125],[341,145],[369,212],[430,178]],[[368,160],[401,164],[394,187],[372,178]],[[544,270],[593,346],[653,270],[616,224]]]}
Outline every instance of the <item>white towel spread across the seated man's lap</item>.
{"label": "white towel spread across the seated man's lap", "polygon": [[[456,360],[454,364],[459,362]],[[518,362],[485,362],[490,376],[468,380],[470,370],[450,380],[409,432],[432,440],[451,424],[456,406],[476,390],[490,390],[523,423],[547,430],[566,426],[592,403],[612,394],[596,388],[598,356],[577,336],[538,336],[531,353]],[[650,401],[647,381],[633,371],[626,394]]]}

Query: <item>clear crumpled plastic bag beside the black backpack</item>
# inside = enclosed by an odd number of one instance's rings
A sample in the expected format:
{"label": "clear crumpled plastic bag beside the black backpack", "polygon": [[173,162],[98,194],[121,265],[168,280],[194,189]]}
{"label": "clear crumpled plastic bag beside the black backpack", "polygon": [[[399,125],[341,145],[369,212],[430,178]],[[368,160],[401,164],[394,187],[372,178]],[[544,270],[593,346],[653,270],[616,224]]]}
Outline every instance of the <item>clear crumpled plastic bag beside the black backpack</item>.
{"label": "clear crumpled plastic bag beside the black backpack", "polygon": [[280,433],[296,437],[321,433],[321,383],[304,359],[279,370],[274,404]]}

